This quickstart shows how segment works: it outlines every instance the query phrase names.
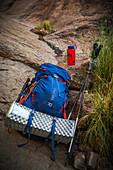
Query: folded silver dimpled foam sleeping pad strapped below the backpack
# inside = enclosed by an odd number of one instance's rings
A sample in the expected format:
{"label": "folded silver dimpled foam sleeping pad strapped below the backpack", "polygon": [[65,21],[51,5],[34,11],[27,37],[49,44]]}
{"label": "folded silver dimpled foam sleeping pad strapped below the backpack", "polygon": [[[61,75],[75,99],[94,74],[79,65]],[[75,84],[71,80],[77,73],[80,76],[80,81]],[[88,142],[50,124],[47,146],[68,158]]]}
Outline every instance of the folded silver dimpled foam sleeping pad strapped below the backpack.
{"label": "folded silver dimpled foam sleeping pad strapped below the backpack", "polygon": [[[31,109],[16,102],[10,107],[5,119],[5,126],[23,131],[29,119]],[[35,111],[31,134],[47,137],[51,131],[53,116]],[[62,143],[69,143],[74,135],[75,121],[56,118],[55,140]]]}

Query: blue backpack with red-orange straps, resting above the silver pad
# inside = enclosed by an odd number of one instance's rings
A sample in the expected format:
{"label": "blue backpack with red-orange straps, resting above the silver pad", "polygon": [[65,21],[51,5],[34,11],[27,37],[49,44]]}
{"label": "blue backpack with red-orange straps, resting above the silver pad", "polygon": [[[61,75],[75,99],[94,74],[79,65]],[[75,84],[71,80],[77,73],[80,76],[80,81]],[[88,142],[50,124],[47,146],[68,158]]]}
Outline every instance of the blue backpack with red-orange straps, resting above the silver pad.
{"label": "blue backpack with red-orange straps, resting above the silver pad", "polygon": [[[67,70],[50,64],[42,64],[32,79],[35,88],[23,105],[37,111],[66,119],[66,105],[69,99],[71,77]],[[31,86],[31,88],[32,88]]]}

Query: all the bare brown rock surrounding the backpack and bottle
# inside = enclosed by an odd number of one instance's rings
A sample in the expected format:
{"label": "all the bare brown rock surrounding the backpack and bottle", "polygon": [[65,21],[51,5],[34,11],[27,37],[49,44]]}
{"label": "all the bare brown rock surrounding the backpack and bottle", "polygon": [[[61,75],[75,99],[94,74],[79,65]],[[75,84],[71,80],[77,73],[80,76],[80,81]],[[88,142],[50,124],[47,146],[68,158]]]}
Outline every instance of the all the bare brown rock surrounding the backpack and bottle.
{"label": "all the bare brown rock surrounding the backpack and bottle", "polygon": [[[26,5],[26,3],[28,5]],[[48,5],[49,4],[49,5]],[[25,80],[34,77],[39,65],[45,62],[57,64],[69,71],[72,77],[69,113],[81,84],[87,74],[89,55],[95,39],[98,38],[97,20],[111,16],[112,1],[101,0],[0,0],[0,169],[1,170],[57,170],[97,169],[110,170],[111,163],[99,158],[89,146],[75,145],[73,166],[65,167],[64,144],[55,146],[56,162],[51,160],[51,141],[32,137],[22,148],[17,145],[27,141],[20,133],[4,127],[4,116],[10,104],[16,100]],[[6,15],[5,15],[6,14]],[[9,16],[8,16],[9,15]],[[56,32],[39,40],[31,32],[38,23],[49,20]],[[77,45],[76,64],[69,67],[64,63],[68,45]],[[90,87],[93,76],[88,82]],[[79,101],[80,102],[80,101]],[[81,112],[92,109],[88,94]],[[74,113],[71,119],[76,119]],[[80,143],[80,142],[79,142]],[[78,161],[78,162],[77,162]]]}

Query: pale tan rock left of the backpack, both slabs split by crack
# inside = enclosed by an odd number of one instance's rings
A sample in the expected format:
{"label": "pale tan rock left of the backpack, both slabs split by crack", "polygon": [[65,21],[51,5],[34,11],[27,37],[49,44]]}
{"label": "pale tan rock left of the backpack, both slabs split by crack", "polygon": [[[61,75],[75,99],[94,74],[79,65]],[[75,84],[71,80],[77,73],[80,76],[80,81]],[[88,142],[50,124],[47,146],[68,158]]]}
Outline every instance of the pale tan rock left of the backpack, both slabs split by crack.
{"label": "pale tan rock left of the backpack, both slabs split by crack", "polygon": [[57,64],[54,51],[38,40],[29,27],[0,15],[0,111],[6,113],[28,77],[40,64]]}

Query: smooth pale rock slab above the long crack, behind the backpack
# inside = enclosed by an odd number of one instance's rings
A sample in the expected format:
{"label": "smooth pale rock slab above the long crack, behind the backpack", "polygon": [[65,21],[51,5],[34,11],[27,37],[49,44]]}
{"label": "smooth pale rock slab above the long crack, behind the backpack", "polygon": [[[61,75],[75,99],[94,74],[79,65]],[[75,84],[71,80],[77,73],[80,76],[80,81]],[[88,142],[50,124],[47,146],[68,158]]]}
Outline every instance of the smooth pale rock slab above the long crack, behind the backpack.
{"label": "smooth pale rock slab above the long crack, behind the backpack", "polygon": [[54,52],[25,27],[0,15],[0,55],[37,70],[43,62],[57,64]]}

